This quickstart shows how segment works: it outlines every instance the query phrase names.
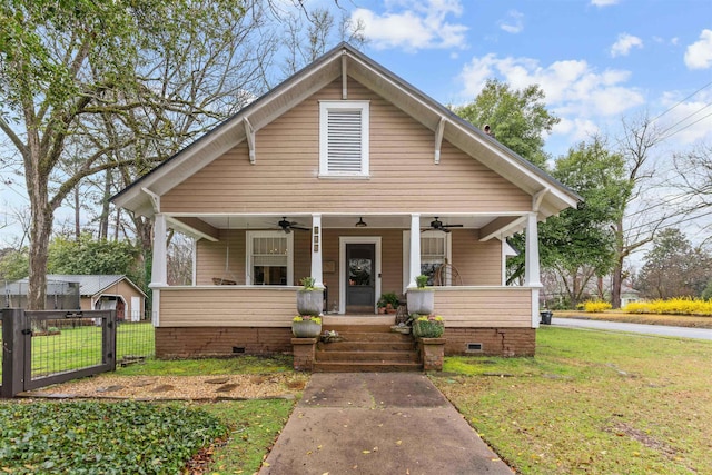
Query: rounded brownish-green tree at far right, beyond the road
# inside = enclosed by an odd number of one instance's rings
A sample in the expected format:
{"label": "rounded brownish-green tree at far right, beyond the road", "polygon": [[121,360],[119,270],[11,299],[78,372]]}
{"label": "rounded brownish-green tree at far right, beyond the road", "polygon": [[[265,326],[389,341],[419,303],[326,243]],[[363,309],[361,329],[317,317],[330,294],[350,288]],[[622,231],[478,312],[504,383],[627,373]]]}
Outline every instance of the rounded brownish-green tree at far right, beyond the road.
{"label": "rounded brownish-green tree at far right, beyond the road", "polygon": [[668,228],[653,239],[637,286],[646,298],[700,297],[712,279],[712,255],[693,247],[680,229]]}

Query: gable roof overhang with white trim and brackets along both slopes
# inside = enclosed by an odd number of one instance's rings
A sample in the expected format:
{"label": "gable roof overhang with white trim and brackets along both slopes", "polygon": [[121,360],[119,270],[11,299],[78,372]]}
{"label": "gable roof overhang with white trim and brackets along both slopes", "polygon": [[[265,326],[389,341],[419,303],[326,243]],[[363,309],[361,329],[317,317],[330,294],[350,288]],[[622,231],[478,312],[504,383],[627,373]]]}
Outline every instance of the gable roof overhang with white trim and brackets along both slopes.
{"label": "gable roof overhang with white trim and brackets along both slopes", "polygon": [[166,194],[210,161],[248,139],[249,133],[259,131],[344,75],[389,100],[432,130],[434,135],[442,129],[444,140],[479,160],[526,194],[535,196],[546,190],[540,205],[540,212],[545,217],[567,207],[575,207],[582,199],[576,192],[528,160],[463,120],[348,43],[340,43],[161,162],[149,174],[134,181],[111,197],[111,201],[139,215],[151,216],[152,200],[156,196]]}

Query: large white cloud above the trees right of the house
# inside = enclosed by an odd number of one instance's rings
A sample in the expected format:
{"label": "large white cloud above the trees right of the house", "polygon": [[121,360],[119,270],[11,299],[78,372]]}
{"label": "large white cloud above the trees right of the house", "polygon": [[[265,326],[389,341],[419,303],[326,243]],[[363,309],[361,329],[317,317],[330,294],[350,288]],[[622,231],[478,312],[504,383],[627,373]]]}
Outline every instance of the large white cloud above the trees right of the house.
{"label": "large white cloud above the trees right of the house", "polygon": [[625,70],[597,71],[583,60],[542,66],[532,58],[498,58],[490,53],[473,58],[459,79],[466,101],[473,100],[491,78],[516,90],[538,85],[545,93],[546,107],[562,119],[553,133],[582,140],[597,130],[596,123],[617,121],[626,111],[644,103],[639,90],[625,86],[630,76]]}

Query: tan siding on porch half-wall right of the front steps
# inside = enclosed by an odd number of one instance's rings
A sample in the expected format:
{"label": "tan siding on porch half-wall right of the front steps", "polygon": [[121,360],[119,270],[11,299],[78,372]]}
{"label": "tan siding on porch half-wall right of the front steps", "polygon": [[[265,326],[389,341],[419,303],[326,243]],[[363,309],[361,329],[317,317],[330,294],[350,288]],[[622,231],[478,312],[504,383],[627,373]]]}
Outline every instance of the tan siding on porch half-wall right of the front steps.
{"label": "tan siding on porch half-wall right of the front steps", "polygon": [[437,288],[435,311],[446,327],[531,327],[528,288]]}

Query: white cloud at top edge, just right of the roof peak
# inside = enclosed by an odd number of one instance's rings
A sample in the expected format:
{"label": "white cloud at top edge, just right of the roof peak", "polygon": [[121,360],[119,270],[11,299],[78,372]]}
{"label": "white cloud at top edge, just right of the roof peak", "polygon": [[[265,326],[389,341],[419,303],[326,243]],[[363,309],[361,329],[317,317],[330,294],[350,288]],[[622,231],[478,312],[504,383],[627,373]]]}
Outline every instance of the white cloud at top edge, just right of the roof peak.
{"label": "white cloud at top edge, just right of the roof peak", "polygon": [[467,27],[448,21],[462,12],[459,0],[392,0],[383,13],[358,8],[352,19],[363,21],[364,33],[376,49],[417,51],[464,48]]}

